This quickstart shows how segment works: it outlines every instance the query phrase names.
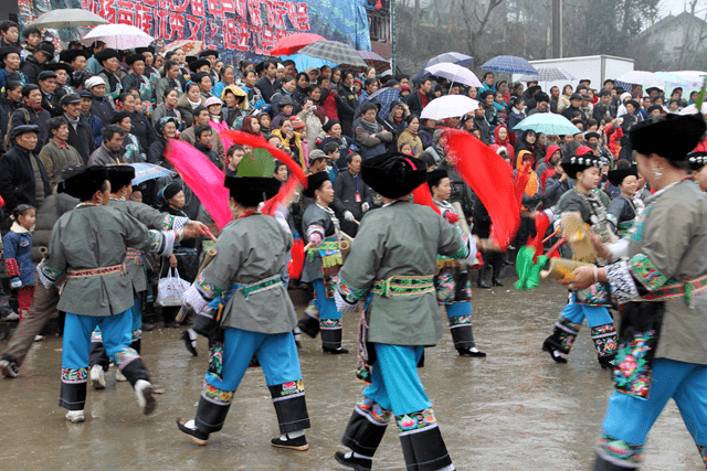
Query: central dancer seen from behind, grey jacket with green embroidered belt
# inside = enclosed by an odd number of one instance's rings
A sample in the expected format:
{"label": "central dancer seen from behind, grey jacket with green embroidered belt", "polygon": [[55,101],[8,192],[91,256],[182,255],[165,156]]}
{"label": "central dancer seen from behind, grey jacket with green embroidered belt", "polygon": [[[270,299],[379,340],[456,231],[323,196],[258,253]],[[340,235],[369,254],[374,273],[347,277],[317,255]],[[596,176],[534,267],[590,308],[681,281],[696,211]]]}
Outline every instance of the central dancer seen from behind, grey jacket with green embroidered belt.
{"label": "central dancer seen from behind, grey jacket with green embroidered belt", "polygon": [[352,451],[336,460],[370,470],[391,417],[395,417],[409,470],[453,470],[430,399],[418,376],[425,346],[442,336],[435,299],[436,256],[476,256],[476,244],[434,211],[409,202],[424,184],[423,161],[401,153],[366,160],[363,181],[383,196],[383,207],[363,216],[340,272],[336,302],[361,319],[359,378],[370,383],[344,432]]}

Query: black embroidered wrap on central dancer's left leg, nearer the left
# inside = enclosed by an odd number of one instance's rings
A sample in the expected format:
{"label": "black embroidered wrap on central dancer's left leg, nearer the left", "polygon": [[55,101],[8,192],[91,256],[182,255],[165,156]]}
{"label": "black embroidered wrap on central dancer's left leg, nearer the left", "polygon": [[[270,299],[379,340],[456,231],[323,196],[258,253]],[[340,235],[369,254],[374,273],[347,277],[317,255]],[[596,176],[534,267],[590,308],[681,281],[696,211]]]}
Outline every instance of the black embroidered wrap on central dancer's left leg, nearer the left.
{"label": "black embroidered wrap on central dancer's left leg, nearer the left", "polygon": [[341,443],[357,453],[372,457],[392,415],[392,410],[386,410],[373,399],[361,396],[346,426]]}

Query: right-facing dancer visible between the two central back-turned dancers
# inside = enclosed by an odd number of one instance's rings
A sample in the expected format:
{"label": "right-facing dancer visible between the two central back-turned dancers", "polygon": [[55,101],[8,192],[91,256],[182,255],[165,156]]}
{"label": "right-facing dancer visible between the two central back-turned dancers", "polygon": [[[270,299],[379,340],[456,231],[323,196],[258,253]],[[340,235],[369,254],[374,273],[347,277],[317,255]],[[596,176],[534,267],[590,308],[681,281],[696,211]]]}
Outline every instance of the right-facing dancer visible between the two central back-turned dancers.
{"label": "right-facing dancer visible between the two central back-turned dancers", "polygon": [[339,250],[339,220],[329,204],[334,201],[334,186],[327,172],[308,176],[305,196],[314,197],[302,216],[302,229],[309,246],[305,254],[305,267],[302,281],[313,285],[315,299],[299,320],[298,329],[315,338],[321,332],[324,353],[349,353],[341,347],[341,312],[334,302],[336,276],[339,274],[341,251]]}

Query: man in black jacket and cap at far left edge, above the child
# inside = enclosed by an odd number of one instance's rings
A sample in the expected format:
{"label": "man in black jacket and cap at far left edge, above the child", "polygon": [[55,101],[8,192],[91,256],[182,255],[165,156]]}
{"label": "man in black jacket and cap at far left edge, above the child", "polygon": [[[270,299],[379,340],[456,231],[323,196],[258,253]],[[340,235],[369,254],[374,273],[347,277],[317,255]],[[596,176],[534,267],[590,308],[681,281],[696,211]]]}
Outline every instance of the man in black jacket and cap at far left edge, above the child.
{"label": "man in black jacket and cap at far left edge, above the child", "polygon": [[39,207],[50,194],[44,165],[32,153],[39,131],[33,125],[14,126],[10,133],[13,147],[0,158],[0,196],[8,213],[20,204]]}

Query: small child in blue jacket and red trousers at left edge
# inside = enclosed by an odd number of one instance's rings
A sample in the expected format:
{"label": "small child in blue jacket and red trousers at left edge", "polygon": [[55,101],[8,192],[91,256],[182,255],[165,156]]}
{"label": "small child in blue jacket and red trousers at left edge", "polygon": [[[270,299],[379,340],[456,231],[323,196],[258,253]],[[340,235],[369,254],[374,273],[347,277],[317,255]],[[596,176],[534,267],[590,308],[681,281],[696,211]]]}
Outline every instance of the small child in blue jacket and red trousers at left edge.
{"label": "small child in blue jacket and red trousers at left edge", "polygon": [[29,204],[15,207],[12,211],[12,227],[2,238],[4,268],[10,278],[10,287],[18,290],[20,322],[30,311],[34,296],[34,266],[30,254],[35,213],[34,207]]}

